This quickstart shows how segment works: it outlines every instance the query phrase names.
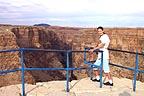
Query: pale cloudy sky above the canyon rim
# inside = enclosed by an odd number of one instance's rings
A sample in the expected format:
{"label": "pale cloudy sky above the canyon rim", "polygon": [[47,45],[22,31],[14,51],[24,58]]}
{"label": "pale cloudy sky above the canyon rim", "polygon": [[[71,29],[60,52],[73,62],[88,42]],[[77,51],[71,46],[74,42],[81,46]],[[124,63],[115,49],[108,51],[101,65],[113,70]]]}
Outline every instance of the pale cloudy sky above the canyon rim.
{"label": "pale cloudy sky above the canyon rim", "polygon": [[144,0],[0,0],[0,24],[144,27]]}

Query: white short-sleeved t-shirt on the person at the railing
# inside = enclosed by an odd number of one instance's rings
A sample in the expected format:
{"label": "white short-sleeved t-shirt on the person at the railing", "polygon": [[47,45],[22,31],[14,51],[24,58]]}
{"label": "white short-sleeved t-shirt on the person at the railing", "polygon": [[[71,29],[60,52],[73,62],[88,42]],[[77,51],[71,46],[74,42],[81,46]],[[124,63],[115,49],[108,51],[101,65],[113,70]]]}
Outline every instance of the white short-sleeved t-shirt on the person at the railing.
{"label": "white short-sleeved t-shirt on the person at the railing", "polygon": [[[107,48],[109,46],[110,39],[109,39],[108,35],[103,34],[99,40],[101,43],[105,43],[104,47],[100,48],[100,50],[103,51],[103,59],[109,59],[109,52],[108,52]],[[101,58],[101,52],[98,52],[98,58]]]}

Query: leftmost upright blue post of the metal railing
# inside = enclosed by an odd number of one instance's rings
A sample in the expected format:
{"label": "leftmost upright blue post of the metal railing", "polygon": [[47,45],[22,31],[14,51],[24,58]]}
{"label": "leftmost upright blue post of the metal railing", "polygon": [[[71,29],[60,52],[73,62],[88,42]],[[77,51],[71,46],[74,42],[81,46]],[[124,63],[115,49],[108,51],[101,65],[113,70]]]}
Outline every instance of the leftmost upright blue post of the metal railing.
{"label": "leftmost upright blue post of the metal railing", "polygon": [[20,49],[21,54],[21,74],[22,74],[22,96],[25,96],[25,78],[24,78],[24,54],[23,49]]}

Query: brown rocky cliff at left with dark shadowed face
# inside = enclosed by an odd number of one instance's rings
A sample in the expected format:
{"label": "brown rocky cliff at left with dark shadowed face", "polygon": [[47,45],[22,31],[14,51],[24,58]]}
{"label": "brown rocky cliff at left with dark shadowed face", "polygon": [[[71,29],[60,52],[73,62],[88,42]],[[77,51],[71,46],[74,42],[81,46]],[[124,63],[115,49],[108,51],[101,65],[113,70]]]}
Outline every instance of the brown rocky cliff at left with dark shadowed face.
{"label": "brown rocky cliff at left with dark shadowed face", "polygon": [[[55,32],[43,27],[12,26],[1,27],[1,50],[15,48],[70,49]],[[1,53],[0,69],[21,68],[19,52]],[[26,68],[64,68],[65,53],[24,52]],[[0,86],[21,83],[21,72],[0,75]],[[36,83],[65,79],[63,71],[25,71],[25,82]]]}

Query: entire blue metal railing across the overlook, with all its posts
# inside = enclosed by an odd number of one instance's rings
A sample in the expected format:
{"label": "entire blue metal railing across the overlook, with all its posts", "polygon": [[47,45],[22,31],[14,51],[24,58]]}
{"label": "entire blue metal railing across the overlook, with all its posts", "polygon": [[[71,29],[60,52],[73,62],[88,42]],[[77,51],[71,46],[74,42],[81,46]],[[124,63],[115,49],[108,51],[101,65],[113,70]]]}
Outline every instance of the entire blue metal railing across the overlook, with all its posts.
{"label": "entire blue metal railing across the overlook, with all its posts", "polygon": [[[22,72],[22,96],[25,96],[25,80],[24,80],[24,71],[25,70],[65,70],[66,71],[66,91],[69,92],[69,71],[71,70],[82,70],[82,69],[90,69],[90,79],[92,80],[92,69],[93,68],[99,68],[100,69],[100,88],[102,88],[102,64],[103,64],[103,59],[101,59],[101,65],[100,66],[95,66],[93,65],[92,62],[87,61],[86,58],[86,52],[88,52],[90,48],[85,48],[85,50],[49,50],[49,49],[35,49],[35,48],[18,48],[18,49],[11,49],[11,50],[0,50],[0,53],[3,52],[15,52],[19,51],[21,54],[21,66],[22,68],[17,68],[14,70],[3,70],[0,71],[0,74],[4,73],[9,73],[9,72],[16,72],[16,71],[21,71]],[[116,49],[109,49],[110,51],[117,51],[117,52],[126,52],[130,54],[136,54],[136,63],[135,63],[135,68],[129,68],[126,66],[121,66],[118,64],[112,64],[112,66],[128,69],[134,71],[134,83],[133,83],[133,91],[136,90],[136,78],[137,78],[137,73],[138,72],[144,72],[144,70],[138,70],[138,55],[144,55],[143,53],[137,53],[137,52],[129,52],[129,51],[123,51],[123,50],[116,50]],[[66,53],[66,68],[24,68],[24,51],[45,51],[45,52],[64,52]],[[88,64],[89,67],[81,67],[81,68],[69,68],[69,57],[70,53],[73,52],[84,52],[84,63]],[[102,52],[100,50],[95,50],[95,52]],[[101,57],[103,57],[103,52]]]}

